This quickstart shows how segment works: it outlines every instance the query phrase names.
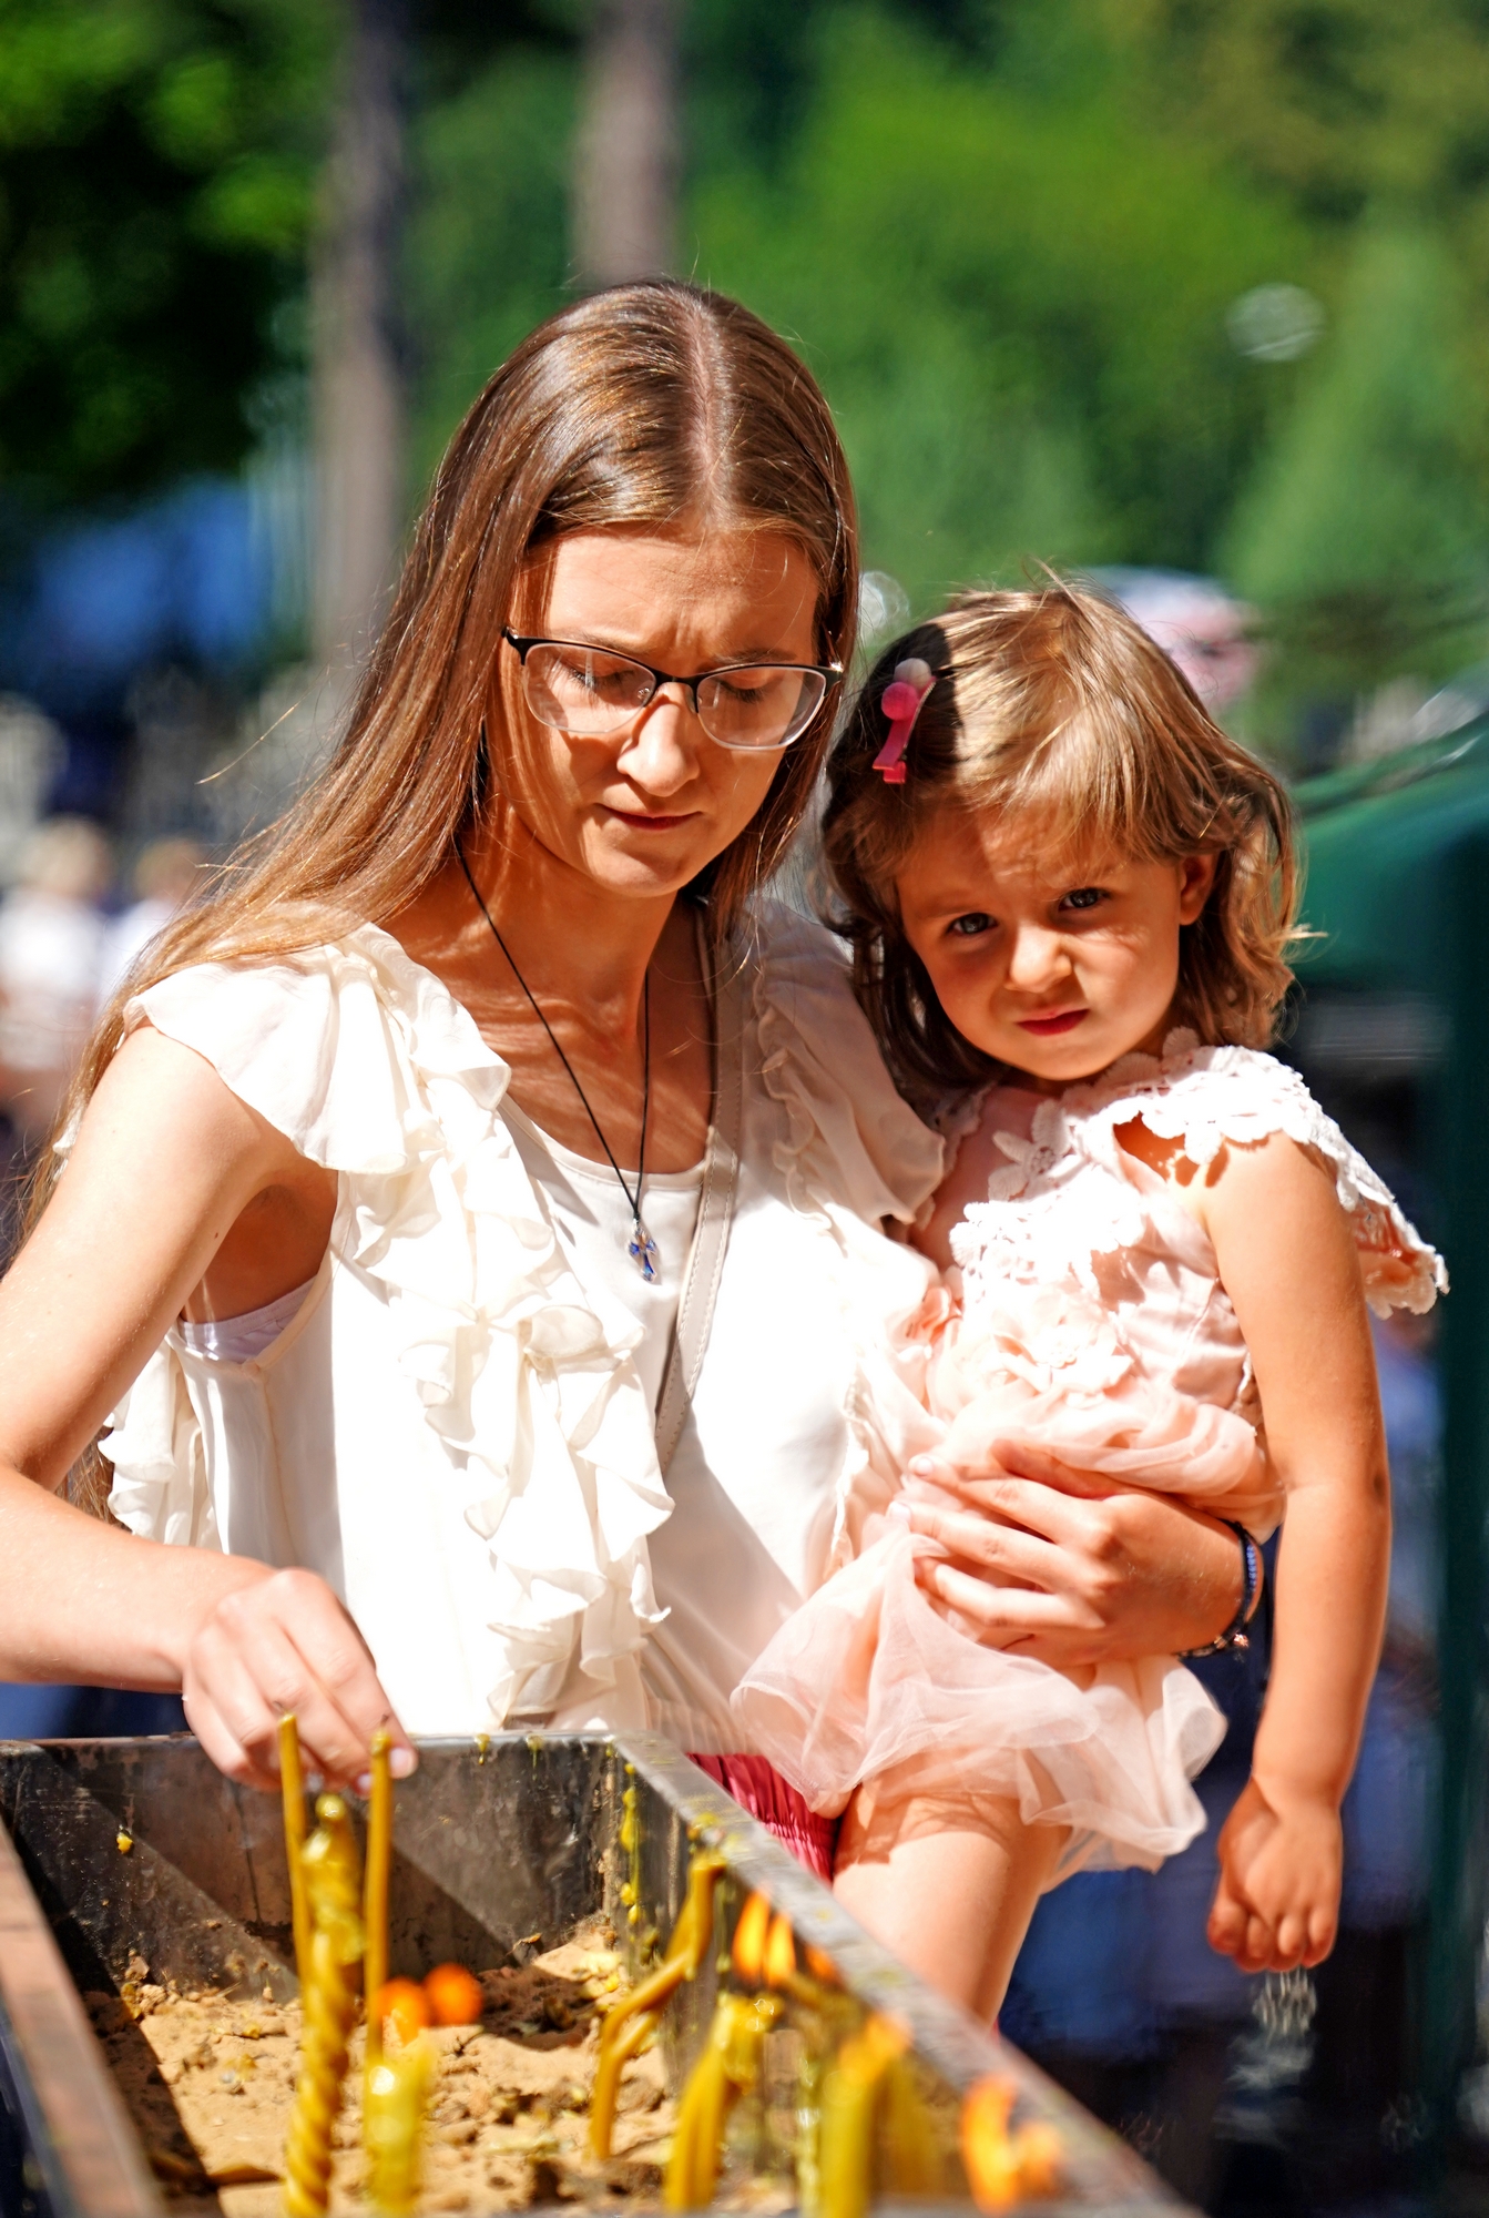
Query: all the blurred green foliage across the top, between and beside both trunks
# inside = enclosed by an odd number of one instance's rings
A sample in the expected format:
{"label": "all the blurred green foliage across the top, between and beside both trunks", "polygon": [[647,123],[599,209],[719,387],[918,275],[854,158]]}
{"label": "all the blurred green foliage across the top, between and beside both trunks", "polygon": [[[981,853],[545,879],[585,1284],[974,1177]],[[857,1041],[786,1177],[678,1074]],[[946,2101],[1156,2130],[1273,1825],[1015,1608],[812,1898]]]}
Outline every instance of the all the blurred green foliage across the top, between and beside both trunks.
{"label": "all the blurred green foliage across the top, between and beside both trunks", "polygon": [[[572,297],[589,4],[410,0],[410,508]],[[1247,592],[1294,690],[1482,652],[1489,0],[682,20],[680,266],[813,364],[915,606],[1163,563]],[[246,452],[297,375],[341,31],[341,0],[0,0],[0,488]],[[1303,362],[1228,339],[1276,282],[1327,311]]]}

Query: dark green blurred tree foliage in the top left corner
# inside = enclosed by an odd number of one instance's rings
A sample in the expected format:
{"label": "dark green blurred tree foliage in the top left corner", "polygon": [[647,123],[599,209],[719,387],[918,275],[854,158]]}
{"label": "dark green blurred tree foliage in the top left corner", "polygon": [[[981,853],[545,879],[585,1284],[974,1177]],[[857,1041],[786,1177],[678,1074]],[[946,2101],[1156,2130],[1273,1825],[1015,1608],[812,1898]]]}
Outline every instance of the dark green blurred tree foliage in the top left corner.
{"label": "dark green blurred tree foliage in the top left corner", "polygon": [[222,468],[295,350],[330,0],[0,0],[0,475]]}

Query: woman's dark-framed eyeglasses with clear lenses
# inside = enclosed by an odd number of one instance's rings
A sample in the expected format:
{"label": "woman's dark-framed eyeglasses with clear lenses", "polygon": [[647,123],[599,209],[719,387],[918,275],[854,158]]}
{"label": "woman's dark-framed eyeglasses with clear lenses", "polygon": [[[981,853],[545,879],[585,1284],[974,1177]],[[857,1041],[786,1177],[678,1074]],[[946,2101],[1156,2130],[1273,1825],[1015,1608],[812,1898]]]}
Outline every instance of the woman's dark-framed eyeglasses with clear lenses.
{"label": "woman's dark-framed eyeglasses with clear lenses", "polygon": [[680,679],[574,639],[518,639],[510,625],[501,637],[523,665],[523,699],[532,714],[574,739],[623,732],[663,685],[680,685],[694,716],[720,747],[789,747],[822,708],[826,688],[842,676],[838,663],[729,663]]}

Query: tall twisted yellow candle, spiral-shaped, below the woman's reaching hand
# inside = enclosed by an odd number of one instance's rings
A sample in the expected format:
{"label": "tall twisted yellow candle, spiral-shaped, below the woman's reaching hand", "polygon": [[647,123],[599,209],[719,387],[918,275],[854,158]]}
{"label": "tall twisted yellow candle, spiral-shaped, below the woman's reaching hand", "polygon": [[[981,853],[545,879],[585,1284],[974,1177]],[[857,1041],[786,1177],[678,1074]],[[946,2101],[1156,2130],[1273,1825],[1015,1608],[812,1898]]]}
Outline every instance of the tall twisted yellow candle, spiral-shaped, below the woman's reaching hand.
{"label": "tall twisted yellow candle, spiral-shaped, below the woman's reaching hand", "polygon": [[321,1794],[317,1830],[301,1852],[312,1925],[308,1978],[299,2001],[304,2034],[299,2080],[284,2143],[288,2218],[321,2218],[330,2200],[330,2131],[341,2109],[346,2045],[357,2016],[355,1967],[361,1963],[361,1870],[346,1803]]}

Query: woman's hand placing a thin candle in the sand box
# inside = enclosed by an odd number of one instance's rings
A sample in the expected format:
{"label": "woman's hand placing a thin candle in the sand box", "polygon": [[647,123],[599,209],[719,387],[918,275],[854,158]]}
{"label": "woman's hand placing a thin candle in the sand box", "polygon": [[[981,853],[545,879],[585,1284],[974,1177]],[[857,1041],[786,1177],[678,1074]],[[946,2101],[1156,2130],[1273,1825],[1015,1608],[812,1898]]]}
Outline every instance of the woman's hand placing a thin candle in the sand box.
{"label": "woman's hand placing a thin candle in the sand box", "polygon": [[219,1595],[182,1659],[191,1730],[228,1779],[279,1790],[277,1730],[292,1710],[308,1772],[366,1792],[370,1741],[392,1732],[392,1772],[417,1763],[361,1632],[310,1570],[264,1570]]}

